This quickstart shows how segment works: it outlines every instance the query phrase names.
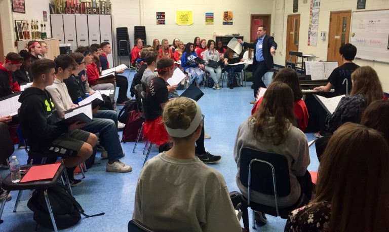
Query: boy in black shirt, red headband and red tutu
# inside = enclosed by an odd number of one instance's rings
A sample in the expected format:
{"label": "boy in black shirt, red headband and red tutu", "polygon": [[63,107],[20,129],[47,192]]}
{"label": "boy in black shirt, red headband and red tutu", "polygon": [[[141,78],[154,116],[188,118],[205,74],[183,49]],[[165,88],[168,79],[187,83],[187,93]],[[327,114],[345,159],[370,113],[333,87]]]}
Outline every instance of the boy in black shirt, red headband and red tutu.
{"label": "boy in black shirt, red headband and red tutu", "polygon": [[[169,148],[170,142],[168,133],[162,123],[162,112],[168,102],[168,88],[166,81],[172,77],[174,72],[174,60],[162,58],[157,63],[158,76],[151,79],[146,87],[146,122],[143,126],[143,133],[150,142],[160,146],[160,152]],[[204,147],[204,128],[199,139],[196,140],[197,157],[205,164],[217,163],[221,157],[213,156],[206,152]]]}

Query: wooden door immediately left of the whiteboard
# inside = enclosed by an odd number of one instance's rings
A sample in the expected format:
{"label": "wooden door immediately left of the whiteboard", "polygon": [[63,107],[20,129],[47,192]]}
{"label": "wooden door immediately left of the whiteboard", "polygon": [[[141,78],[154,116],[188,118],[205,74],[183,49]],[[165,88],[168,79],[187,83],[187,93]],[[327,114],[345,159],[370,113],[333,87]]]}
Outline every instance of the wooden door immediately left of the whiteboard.
{"label": "wooden door immediately left of the whiteboard", "polygon": [[340,59],[339,48],[347,44],[350,36],[351,11],[331,12],[330,28],[328,33],[327,61],[338,61]]}

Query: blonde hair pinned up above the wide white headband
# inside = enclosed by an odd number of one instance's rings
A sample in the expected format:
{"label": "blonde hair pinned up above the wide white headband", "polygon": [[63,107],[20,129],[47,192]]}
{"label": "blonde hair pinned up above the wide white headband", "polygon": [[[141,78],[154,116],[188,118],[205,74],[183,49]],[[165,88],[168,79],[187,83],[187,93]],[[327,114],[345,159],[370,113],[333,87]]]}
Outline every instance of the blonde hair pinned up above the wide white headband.
{"label": "blonde hair pinned up above the wide white headband", "polygon": [[166,103],[163,120],[169,128],[186,130],[195,118],[196,112],[195,102],[186,97],[178,97]]}

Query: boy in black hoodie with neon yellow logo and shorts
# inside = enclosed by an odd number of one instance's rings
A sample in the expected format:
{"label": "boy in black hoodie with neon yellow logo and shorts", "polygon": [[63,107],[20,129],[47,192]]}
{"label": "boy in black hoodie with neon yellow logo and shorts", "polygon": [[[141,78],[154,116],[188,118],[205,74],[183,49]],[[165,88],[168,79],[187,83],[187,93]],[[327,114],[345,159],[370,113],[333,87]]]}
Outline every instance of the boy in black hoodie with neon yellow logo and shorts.
{"label": "boy in black hoodie with neon yellow logo and shorts", "polygon": [[77,155],[66,158],[65,167],[73,168],[87,160],[96,145],[94,134],[78,130],[85,123],[75,122],[69,126],[56,126],[60,119],[56,107],[46,87],[54,82],[55,62],[49,59],[35,60],[31,66],[33,83],[19,97],[20,126],[28,139],[31,151],[40,152],[50,145],[59,145],[76,150]]}

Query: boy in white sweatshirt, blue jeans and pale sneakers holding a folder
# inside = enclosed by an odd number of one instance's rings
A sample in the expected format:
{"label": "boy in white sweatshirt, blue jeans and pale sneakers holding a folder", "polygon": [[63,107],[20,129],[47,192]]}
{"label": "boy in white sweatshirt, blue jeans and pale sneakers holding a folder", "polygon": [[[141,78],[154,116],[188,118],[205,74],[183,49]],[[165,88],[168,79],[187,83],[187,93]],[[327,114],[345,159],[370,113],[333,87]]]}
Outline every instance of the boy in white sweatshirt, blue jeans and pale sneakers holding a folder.
{"label": "boy in white sweatshirt, blue jeans and pale sneakers holding a folder", "polygon": [[[63,83],[64,79],[69,78],[75,62],[67,55],[57,56],[54,62],[56,78],[54,85],[48,87],[47,91],[53,96],[54,104],[60,116],[63,117],[65,110],[78,107],[71,101],[66,85]],[[116,111],[99,110],[97,106],[93,109],[93,121],[86,123],[81,129],[91,133],[100,133],[100,143],[108,153],[107,172],[131,172],[132,168],[119,160],[124,157],[124,153],[118,137],[117,123],[118,113]]]}

